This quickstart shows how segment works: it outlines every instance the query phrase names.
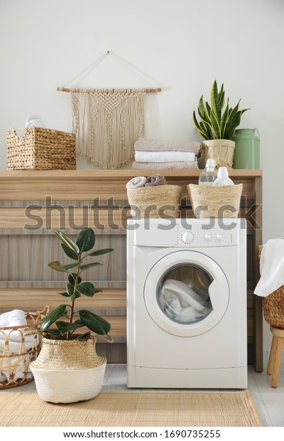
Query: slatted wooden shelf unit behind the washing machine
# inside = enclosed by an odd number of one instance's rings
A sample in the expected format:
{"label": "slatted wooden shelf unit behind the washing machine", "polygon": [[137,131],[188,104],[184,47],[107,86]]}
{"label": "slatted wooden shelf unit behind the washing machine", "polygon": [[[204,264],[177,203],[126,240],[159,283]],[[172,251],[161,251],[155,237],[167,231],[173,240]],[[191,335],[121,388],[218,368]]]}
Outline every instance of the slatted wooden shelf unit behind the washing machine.
{"label": "slatted wooden shelf unit behind the washing machine", "polygon": [[[103,293],[96,294],[94,302],[84,298],[84,307],[109,319],[115,343],[100,347],[110,363],[125,363],[126,219],[130,216],[126,183],[134,176],[155,173],[182,187],[181,216],[192,218],[187,184],[197,184],[200,170],[0,171],[0,312],[57,306],[56,292],[65,279],[47,267],[62,253],[53,229],[76,234],[76,228],[94,228],[99,248],[114,248],[115,255],[109,255],[99,272],[87,270],[88,279],[97,280]],[[235,184],[243,184],[240,217],[248,226],[248,358],[256,371],[262,371],[262,303],[253,295],[262,243],[262,171],[233,169],[229,176]]]}

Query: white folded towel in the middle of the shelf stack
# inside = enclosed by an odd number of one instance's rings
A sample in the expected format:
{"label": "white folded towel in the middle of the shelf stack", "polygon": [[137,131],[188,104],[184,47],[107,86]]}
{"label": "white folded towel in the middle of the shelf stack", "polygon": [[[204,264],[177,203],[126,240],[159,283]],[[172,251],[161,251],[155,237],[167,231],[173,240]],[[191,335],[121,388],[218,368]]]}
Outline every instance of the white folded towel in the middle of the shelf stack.
{"label": "white folded towel in the middle of the shelf stack", "polygon": [[136,162],[193,162],[193,152],[135,152]]}

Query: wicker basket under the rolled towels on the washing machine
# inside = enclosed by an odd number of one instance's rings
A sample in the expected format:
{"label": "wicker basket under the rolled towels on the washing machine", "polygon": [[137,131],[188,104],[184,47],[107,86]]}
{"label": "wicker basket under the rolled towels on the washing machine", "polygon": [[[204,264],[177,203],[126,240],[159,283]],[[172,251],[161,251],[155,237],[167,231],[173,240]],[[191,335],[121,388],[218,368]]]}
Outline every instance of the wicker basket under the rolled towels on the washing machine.
{"label": "wicker basket under the rolled towels on the washing machine", "polygon": [[159,185],[127,189],[134,218],[179,218],[182,188]]}

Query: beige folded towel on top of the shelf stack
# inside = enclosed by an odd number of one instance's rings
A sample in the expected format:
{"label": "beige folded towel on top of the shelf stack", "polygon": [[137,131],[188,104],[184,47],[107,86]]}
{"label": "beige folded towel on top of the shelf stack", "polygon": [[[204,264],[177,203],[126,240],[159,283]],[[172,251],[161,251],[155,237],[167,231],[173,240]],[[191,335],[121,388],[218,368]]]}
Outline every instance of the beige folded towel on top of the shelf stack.
{"label": "beige folded towel on top of the shelf stack", "polygon": [[134,144],[134,150],[141,152],[193,152],[197,158],[201,155],[200,142],[176,142],[163,139],[139,138]]}

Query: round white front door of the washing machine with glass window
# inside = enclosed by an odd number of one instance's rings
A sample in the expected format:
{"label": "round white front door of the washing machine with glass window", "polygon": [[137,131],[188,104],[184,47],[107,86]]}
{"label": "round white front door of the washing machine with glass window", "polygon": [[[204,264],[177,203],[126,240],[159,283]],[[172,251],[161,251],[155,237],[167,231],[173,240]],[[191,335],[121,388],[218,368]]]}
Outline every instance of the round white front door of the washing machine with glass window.
{"label": "round white front door of the washing machine with glass window", "polygon": [[177,336],[197,336],[216,326],[229,304],[229,285],[211,257],[178,250],[153,265],[144,302],[155,324]]}

